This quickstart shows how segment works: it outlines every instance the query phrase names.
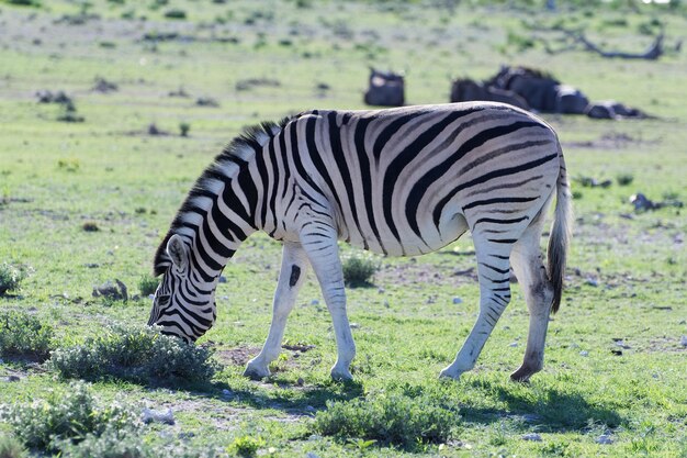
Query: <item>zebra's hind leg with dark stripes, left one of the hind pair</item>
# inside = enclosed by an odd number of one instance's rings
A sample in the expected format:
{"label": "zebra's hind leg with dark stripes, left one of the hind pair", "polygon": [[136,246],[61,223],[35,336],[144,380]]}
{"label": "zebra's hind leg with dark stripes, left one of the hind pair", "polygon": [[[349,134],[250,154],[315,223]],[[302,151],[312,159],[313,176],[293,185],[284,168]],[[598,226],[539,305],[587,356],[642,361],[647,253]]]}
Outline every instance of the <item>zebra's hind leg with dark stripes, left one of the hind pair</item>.
{"label": "zebra's hind leg with dark stripes, left one of the hind pair", "polygon": [[509,244],[480,244],[475,237],[480,278],[480,314],[458,356],[449,367],[441,371],[439,377],[458,380],[463,372],[475,366],[486,339],[510,302],[510,262],[508,261],[510,247]]}

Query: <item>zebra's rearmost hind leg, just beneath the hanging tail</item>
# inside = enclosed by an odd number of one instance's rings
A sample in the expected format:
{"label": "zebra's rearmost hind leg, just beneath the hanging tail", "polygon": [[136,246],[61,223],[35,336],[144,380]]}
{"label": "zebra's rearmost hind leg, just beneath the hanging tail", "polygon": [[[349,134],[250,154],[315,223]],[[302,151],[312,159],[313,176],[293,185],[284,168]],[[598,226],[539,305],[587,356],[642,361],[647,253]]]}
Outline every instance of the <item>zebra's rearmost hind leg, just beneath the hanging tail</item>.
{"label": "zebra's rearmost hind leg, just beneath the hanging tail", "polygon": [[540,217],[532,222],[515,244],[510,255],[513,269],[518,283],[522,287],[530,313],[525,359],[522,366],[510,376],[510,379],[515,381],[528,381],[532,375],[542,369],[544,362],[544,342],[553,301],[553,288],[547,277],[539,246],[543,220]]}

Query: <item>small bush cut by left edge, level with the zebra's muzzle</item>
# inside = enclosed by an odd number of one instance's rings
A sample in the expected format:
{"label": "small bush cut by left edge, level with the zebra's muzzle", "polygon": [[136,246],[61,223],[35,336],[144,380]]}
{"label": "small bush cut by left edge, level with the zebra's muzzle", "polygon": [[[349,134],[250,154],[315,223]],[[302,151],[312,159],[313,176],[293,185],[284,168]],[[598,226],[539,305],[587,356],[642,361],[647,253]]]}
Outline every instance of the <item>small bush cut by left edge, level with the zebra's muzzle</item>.
{"label": "small bush cut by left edge, level with the zebra's muzzle", "polygon": [[53,328],[25,312],[0,312],[0,355],[44,361],[53,346]]}

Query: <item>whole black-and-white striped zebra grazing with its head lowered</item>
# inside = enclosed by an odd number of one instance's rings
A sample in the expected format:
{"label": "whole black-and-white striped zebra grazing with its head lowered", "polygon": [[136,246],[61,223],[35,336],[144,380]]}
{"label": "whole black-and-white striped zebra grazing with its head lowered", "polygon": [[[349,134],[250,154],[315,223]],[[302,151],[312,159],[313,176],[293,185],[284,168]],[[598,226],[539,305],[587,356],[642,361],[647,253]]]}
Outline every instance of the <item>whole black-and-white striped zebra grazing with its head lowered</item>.
{"label": "whole black-and-white striped zebra grazing with its head lowered", "polygon": [[[547,269],[539,243],[554,194]],[[470,230],[480,314],[441,376],[458,379],[473,368],[510,301],[513,266],[530,325],[511,378],[527,380],[542,368],[549,314],[561,302],[570,227],[561,146],[528,112],[489,102],[313,110],[248,130],[198,179],[157,250],[155,272],[164,277],[149,324],[187,340],[202,336],[215,321],[222,269],[261,230],[283,243],[283,258],[269,335],[245,375],[269,376],[309,265],[334,322],[331,377],[350,379],[356,346],[337,241],[414,256]]]}

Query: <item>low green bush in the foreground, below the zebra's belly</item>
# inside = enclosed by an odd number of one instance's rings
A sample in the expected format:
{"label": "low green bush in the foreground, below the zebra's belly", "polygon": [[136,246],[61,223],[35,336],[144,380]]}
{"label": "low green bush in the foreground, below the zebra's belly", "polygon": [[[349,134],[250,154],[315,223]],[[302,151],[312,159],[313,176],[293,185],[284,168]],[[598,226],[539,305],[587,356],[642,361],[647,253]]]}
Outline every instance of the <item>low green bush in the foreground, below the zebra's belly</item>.
{"label": "low green bush in the foreground, below the zebra's belly", "polygon": [[460,416],[458,409],[426,394],[381,394],[373,399],[328,402],[315,418],[315,428],[339,439],[371,439],[413,448],[418,444],[444,443]]}

